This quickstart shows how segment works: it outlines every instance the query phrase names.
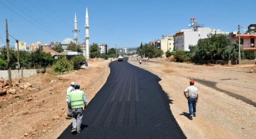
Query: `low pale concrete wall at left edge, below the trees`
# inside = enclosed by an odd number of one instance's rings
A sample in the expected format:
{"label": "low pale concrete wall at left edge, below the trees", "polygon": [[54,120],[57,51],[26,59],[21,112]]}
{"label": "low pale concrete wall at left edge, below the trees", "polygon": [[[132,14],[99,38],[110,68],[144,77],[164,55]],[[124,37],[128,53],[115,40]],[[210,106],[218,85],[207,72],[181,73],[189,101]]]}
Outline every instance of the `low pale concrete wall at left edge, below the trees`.
{"label": "low pale concrete wall at left edge, below the trees", "polygon": [[[37,69],[12,70],[11,73],[12,78],[27,77],[37,74]],[[9,80],[8,71],[0,71],[0,78],[1,77],[4,78],[4,80]]]}

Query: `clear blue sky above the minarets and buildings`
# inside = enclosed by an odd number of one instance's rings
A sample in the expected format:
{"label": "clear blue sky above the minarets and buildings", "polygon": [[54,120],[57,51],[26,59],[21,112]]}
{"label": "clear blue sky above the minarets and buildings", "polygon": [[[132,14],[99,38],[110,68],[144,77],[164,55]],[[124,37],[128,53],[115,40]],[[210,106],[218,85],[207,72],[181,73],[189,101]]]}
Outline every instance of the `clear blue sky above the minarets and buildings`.
{"label": "clear blue sky above the minarets and buildings", "polygon": [[[90,44],[137,48],[141,42],[189,28],[190,18],[223,32],[237,31],[238,24],[247,29],[249,24],[256,24],[255,5],[255,0],[1,0],[0,47],[6,43],[5,19],[9,34],[29,46],[37,41],[48,44],[73,39],[76,12],[78,42],[84,42],[87,7]],[[11,36],[10,45],[14,46]]]}

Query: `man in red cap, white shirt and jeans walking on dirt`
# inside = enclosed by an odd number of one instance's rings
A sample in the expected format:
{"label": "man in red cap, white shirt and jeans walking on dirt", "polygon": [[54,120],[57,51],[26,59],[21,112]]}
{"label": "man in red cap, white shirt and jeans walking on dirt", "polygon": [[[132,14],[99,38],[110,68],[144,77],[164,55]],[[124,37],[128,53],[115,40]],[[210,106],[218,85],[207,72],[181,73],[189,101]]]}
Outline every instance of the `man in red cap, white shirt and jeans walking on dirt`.
{"label": "man in red cap, white shirt and jeans walking on dirt", "polygon": [[194,86],[195,81],[189,82],[190,86],[184,90],[184,95],[188,99],[189,104],[189,119],[193,120],[196,112],[196,103],[198,102],[198,88]]}

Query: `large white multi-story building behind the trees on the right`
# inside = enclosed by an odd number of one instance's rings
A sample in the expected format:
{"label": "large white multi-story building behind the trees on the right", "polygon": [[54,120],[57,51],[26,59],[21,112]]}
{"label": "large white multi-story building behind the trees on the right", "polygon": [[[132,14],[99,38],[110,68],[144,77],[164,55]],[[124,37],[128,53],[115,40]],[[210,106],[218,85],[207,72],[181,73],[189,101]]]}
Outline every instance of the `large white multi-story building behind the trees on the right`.
{"label": "large white multi-story building behind the trees on the right", "polygon": [[208,34],[223,34],[220,29],[211,29],[209,27],[195,27],[190,29],[181,29],[174,36],[174,51],[189,51],[189,45],[196,45],[199,39],[208,38]]}

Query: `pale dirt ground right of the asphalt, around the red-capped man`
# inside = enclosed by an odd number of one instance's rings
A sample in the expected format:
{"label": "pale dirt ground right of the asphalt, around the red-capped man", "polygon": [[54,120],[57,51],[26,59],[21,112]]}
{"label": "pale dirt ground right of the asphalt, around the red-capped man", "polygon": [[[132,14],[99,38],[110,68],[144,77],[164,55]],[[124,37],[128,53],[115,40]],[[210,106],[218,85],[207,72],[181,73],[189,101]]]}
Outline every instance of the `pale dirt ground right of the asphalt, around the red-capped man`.
{"label": "pale dirt ground right of the asphalt, around the red-capped man", "polygon": [[[247,73],[254,66],[146,60],[139,64],[132,58],[129,62],[161,78],[160,85],[171,100],[170,110],[188,138],[256,138],[256,74]],[[193,121],[188,120],[188,102],[183,94],[190,79],[195,80],[200,93]]]}

